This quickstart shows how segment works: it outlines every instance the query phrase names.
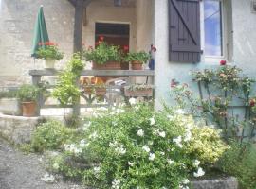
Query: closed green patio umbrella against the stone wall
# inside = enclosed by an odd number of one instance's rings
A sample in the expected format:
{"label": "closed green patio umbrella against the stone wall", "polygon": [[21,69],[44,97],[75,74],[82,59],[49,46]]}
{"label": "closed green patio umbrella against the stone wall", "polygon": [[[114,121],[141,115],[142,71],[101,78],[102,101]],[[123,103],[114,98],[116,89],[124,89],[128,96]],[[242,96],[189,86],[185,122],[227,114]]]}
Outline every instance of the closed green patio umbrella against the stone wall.
{"label": "closed green patio umbrella against the stone wall", "polygon": [[46,28],[46,20],[44,16],[43,6],[41,6],[37,15],[36,25],[34,28],[34,38],[31,56],[36,58],[36,51],[38,50],[39,46],[42,45],[43,47],[45,47],[46,42],[49,42],[49,37]]}

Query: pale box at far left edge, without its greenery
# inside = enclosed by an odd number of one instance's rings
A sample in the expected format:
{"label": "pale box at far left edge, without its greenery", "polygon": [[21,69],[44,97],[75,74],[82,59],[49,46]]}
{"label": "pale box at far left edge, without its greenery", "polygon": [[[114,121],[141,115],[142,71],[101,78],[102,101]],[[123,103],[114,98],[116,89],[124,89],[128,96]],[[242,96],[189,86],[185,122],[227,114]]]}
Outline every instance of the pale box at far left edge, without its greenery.
{"label": "pale box at far left edge, without its greenery", "polygon": [[17,98],[1,98],[0,112],[7,115],[21,115],[21,106]]}

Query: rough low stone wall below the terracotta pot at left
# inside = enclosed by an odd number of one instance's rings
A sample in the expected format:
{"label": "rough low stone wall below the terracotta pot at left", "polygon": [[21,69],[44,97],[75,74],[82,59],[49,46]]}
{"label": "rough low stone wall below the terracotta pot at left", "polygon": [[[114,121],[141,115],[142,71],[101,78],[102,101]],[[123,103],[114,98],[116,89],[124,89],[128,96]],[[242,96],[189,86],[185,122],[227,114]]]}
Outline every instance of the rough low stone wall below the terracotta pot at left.
{"label": "rough low stone wall below the terracotta pot at left", "polygon": [[0,114],[0,135],[15,145],[26,144],[40,120],[40,117]]}

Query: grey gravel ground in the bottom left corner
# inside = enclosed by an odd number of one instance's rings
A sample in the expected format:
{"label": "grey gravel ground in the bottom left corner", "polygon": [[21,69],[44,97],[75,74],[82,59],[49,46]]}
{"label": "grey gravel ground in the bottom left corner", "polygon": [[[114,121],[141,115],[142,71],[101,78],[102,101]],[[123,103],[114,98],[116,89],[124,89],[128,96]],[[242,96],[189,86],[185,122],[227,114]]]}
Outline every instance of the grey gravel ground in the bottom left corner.
{"label": "grey gravel ground in the bottom left corner", "polygon": [[40,156],[25,155],[0,138],[0,189],[82,189],[62,180],[46,183]]}

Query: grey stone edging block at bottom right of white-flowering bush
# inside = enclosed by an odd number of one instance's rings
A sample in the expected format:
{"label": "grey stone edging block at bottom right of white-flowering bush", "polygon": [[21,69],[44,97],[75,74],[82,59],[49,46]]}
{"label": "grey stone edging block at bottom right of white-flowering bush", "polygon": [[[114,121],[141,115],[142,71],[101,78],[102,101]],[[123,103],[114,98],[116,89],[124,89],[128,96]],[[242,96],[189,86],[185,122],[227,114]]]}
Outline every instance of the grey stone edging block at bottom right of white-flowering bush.
{"label": "grey stone edging block at bottom right of white-flowering bush", "polygon": [[238,189],[238,181],[233,177],[192,181],[192,189]]}

